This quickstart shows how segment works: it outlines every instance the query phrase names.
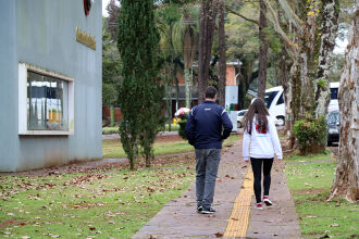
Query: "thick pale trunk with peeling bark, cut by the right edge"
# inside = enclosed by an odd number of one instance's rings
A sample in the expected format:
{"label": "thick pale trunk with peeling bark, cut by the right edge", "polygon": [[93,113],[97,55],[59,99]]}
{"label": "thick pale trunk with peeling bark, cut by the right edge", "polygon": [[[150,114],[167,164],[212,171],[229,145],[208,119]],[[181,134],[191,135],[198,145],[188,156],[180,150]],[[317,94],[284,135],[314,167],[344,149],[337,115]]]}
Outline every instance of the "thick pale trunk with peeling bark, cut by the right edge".
{"label": "thick pale trunk with peeling bark, cut by the right edge", "polygon": [[359,199],[359,2],[349,30],[346,62],[338,93],[341,141],[335,179],[330,199],[338,194],[355,202]]}

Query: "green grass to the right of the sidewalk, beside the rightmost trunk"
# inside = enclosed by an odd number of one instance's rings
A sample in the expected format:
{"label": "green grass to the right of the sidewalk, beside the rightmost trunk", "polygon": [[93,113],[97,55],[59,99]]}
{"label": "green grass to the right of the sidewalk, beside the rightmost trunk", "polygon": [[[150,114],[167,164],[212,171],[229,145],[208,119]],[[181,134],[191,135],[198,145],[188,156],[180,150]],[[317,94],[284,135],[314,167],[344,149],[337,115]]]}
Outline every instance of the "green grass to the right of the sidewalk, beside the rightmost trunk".
{"label": "green grass to the right of the sidewalk, beside the rightmost trunk", "polygon": [[326,201],[336,163],[315,161],[330,159],[331,154],[320,154],[296,155],[287,160],[298,162],[286,165],[286,176],[296,204],[301,234],[308,238],[325,235],[337,238],[359,237],[357,204],[348,203],[343,198]]}

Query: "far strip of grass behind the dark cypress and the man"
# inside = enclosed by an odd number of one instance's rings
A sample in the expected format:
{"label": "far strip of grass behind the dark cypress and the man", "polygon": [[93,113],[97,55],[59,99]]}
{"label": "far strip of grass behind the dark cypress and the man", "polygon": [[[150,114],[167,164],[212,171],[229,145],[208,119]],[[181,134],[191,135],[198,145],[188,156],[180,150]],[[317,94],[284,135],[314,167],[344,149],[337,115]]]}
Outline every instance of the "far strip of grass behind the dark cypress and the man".
{"label": "far strip of grass behind the dark cypress and the man", "polygon": [[[224,141],[224,146],[231,146],[235,141],[239,140],[239,135],[233,135]],[[194,147],[187,141],[174,141],[174,142],[157,142],[153,146],[154,154],[169,154],[193,151]],[[103,158],[106,159],[122,159],[126,158],[121,141],[119,139],[104,139],[102,143]]]}

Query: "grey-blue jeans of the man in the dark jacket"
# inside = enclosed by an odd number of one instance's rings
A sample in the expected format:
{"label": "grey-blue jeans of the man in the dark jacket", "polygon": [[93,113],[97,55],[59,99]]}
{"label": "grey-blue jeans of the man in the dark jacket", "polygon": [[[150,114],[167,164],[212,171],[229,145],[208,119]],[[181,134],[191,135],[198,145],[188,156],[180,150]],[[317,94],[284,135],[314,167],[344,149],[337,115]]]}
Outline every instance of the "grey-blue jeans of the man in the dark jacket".
{"label": "grey-blue jeans of the man in the dark jacket", "polygon": [[221,149],[196,149],[195,153],[197,205],[210,207],[213,203]]}

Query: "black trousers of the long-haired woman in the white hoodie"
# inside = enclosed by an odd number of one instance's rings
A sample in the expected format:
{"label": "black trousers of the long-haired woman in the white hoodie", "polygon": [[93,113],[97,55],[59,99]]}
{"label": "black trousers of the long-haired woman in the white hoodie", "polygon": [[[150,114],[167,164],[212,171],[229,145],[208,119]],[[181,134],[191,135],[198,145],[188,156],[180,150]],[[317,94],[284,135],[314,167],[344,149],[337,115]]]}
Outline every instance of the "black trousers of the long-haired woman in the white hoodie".
{"label": "black trousers of the long-haired woman in the white hoodie", "polygon": [[255,159],[250,158],[251,168],[253,171],[255,176],[255,194],[257,203],[261,202],[261,180],[262,180],[262,163],[263,163],[263,188],[264,188],[264,196],[269,196],[269,190],[271,187],[271,169],[273,165],[273,158],[272,159]]}

